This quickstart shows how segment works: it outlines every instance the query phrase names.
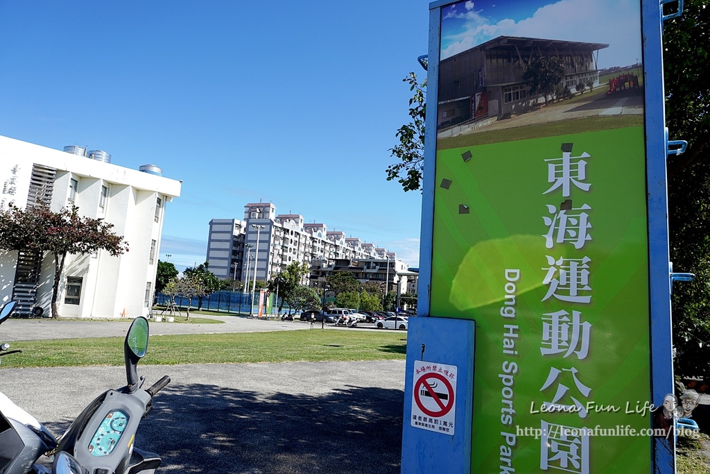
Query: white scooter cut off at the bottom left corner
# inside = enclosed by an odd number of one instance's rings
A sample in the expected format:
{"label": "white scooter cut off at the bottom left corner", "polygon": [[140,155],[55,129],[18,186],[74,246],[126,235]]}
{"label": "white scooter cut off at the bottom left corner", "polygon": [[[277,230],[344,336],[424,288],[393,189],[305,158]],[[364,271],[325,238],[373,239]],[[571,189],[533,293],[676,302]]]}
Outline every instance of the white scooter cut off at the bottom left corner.
{"label": "white scooter cut off at the bottom left corner", "polygon": [[[0,309],[0,324],[10,317],[17,301],[10,301]],[[17,354],[7,343],[0,344],[0,357]],[[0,393],[0,473],[48,474],[45,466],[37,464],[44,454],[57,447],[55,437],[31,414]]]}

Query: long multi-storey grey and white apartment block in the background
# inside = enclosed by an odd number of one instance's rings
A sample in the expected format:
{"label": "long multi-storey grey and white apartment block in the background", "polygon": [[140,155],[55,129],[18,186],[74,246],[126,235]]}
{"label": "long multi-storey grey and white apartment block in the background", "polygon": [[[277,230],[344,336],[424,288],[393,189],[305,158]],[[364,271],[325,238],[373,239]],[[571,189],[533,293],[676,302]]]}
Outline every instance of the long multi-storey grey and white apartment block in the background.
{"label": "long multi-storey grey and white apartment block in the background", "polygon": [[[356,278],[383,282],[389,278],[390,291],[407,291],[406,265],[397,255],[345,232],[328,230],[327,225],[306,223],[300,214],[277,214],[273,203],[249,203],[244,206],[244,220],[212,219],[207,242],[209,269],[219,278],[239,279],[244,284],[256,279],[268,281],[293,262],[305,262],[311,269],[302,284],[321,286],[332,271],[351,264],[364,266]],[[338,264],[336,264],[338,262]],[[389,262],[391,276],[388,275]],[[336,269],[337,267],[337,269]],[[373,271],[373,269],[381,271]],[[404,284],[403,284],[404,283]]]}

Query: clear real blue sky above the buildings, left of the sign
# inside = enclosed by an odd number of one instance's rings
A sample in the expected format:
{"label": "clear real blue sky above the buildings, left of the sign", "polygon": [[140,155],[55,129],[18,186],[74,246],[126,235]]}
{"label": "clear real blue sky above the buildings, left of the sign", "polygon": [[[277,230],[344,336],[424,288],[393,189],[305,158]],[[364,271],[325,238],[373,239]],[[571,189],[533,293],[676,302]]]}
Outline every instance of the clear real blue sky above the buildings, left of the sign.
{"label": "clear real blue sky above the buildings, left of the sign", "polygon": [[246,203],[418,265],[421,194],[386,181],[428,1],[0,1],[0,134],[182,179],[160,259],[204,262]]}

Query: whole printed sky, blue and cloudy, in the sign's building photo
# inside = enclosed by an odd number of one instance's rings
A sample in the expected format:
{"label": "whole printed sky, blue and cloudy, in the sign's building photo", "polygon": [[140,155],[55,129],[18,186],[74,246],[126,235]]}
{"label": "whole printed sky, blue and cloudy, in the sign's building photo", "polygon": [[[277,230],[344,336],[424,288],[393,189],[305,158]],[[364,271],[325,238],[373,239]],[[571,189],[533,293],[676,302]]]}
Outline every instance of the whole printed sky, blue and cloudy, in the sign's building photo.
{"label": "whole printed sky, blue and cloudy, in the sign's building photo", "polygon": [[464,0],[442,18],[442,59],[498,36],[606,43],[599,68],[641,58],[639,0]]}

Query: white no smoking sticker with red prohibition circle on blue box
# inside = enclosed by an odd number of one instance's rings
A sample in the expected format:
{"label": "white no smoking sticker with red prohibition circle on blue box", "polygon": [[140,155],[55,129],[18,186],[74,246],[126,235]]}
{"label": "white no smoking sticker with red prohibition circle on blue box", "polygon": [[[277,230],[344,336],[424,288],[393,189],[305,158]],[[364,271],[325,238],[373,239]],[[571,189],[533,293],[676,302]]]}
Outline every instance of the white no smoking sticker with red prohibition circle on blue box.
{"label": "white no smoking sticker with red prohibition circle on blue box", "polygon": [[442,434],[454,434],[456,381],[455,365],[415,360],[412,426]]}

